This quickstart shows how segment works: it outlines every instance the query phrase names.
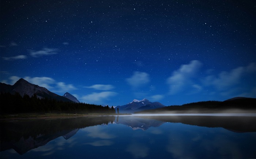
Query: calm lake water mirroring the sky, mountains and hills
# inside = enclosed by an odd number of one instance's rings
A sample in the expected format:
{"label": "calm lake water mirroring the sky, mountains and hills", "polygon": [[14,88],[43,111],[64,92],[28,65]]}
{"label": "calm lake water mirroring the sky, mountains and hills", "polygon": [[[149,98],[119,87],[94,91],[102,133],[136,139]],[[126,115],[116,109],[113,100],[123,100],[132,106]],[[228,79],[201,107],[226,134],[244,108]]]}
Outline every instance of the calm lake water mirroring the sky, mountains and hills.
{"label": "calm lake water mirroring the sky, mountains and hills", "polygon": [[255,123],[255,115],[2,121],[0,157],[256,158]]}

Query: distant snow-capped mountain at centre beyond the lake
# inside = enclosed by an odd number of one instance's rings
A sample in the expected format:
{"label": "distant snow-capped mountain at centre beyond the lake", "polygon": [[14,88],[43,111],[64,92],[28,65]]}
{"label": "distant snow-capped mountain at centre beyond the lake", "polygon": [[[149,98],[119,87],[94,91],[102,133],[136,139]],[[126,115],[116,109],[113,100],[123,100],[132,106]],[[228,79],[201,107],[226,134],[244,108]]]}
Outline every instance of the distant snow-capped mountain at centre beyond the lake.
{"label": "distant snow-capped mountain at centre beyond the lake", "polygon": [[146,98],[142,100],[134,99],[132,102],[123,106],[117,106],[115,109],[119,109],[120,113],[134,113],[136,111],[151,110],[155,108],[165,107],[159,102],[150,102]]}

